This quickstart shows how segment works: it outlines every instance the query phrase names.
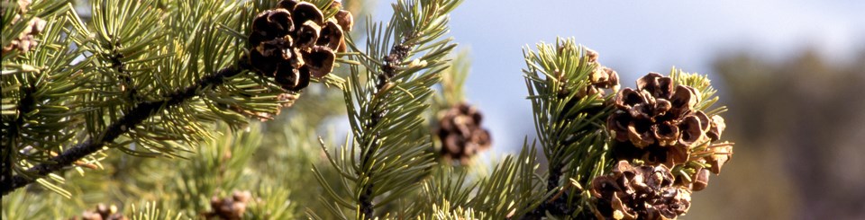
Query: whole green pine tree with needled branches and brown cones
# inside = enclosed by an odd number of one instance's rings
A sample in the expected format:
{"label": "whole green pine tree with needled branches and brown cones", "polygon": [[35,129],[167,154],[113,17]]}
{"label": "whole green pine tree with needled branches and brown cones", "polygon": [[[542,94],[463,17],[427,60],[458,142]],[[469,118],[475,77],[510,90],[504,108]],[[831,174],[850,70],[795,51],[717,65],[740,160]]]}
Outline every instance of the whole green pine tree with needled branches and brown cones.
{"label": "whole green pine tree with needled branches and brown cones", "polygon": [[460,2],[3,1],[3,217],[676,218],[729,160],[706,76],[620,90],[568,39],[524,48],[538,139],[486,172]]}

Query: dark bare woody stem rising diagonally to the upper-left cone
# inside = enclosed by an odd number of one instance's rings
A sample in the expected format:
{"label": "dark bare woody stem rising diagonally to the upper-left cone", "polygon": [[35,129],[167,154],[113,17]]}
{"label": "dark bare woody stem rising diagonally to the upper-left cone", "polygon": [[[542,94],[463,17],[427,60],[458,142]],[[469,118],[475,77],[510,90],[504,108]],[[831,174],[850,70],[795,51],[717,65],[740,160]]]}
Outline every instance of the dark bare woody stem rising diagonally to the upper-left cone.
{"label": "dark bare woody stem rising diagonally to the upper-left cone", "polygon": [[203,90],[223,84],[228,78],[240,74],[244,69],[246,69],[244,62],[245,61],[241,61],[233,66],[220,69],[212,75],[206,75],[199,79],[195,84],[172,92],[162,100],[143,101],[136,104],[128,114],[124,115],[120,119],[114,120],[108,128],[105,128],[101,135],[91,136],[84,143],[72,146],[61,154],[52,157],[47,162],[37,164],[28,169],[27,172],[32,173],[31,175],[25,176],[19,174],[14,175],[12,178],[4,179],[2,185],[0,185],[0,193],[6,195],[15,189],[29,185],[35,180],[45,177],[50,173],[58,172],[87,155],[96,153],[106,144],[114,142],[118,136],[128,132],[130,128],[136,127],[142,121],[150,118],[157,112],[178,106],[180,103],[198,96]]}

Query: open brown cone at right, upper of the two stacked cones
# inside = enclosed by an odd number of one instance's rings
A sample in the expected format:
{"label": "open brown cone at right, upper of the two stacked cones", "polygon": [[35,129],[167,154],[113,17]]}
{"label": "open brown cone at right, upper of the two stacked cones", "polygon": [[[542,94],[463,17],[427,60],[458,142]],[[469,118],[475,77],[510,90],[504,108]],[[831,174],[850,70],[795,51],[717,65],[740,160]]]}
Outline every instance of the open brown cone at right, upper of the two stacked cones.
{"label": "open brown cone at right, upper of the two stacked cones", "polygon": [[615,95],[615,112],[606,126],[617,145],[618,159],[641,159],[672,167],[687,163],[693,147],[717,140],[724,119],[697,110],[701,94],[669,77],[650,73],[637,80],[637,89]]}

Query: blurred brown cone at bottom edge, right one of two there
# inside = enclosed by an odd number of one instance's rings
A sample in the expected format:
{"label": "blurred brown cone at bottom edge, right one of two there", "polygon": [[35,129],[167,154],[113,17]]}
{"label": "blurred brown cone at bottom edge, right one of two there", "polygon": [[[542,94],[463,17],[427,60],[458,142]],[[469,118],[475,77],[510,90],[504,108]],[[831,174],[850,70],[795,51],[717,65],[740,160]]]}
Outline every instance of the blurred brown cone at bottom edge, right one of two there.
{"label": "blurred brown cone at bottom edge, right one of two there", "polygon": [[211,212],[205,213],[206,219],[239,220],[246,213],[246,207],[252,198],[250,191],[234,191],[232,197],[210,198]]}

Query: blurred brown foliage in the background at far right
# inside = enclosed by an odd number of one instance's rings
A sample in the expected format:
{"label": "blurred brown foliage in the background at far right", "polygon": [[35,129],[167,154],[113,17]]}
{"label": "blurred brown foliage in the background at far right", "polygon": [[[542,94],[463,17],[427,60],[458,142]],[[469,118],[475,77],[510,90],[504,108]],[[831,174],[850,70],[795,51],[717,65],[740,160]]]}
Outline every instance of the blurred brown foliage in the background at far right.
{"label": "blurred brown foliage in the background at far right", "polygon": [[733,162],[694,197],[695,219],[865,218],[865,48],[834,60],[717,55]]}

